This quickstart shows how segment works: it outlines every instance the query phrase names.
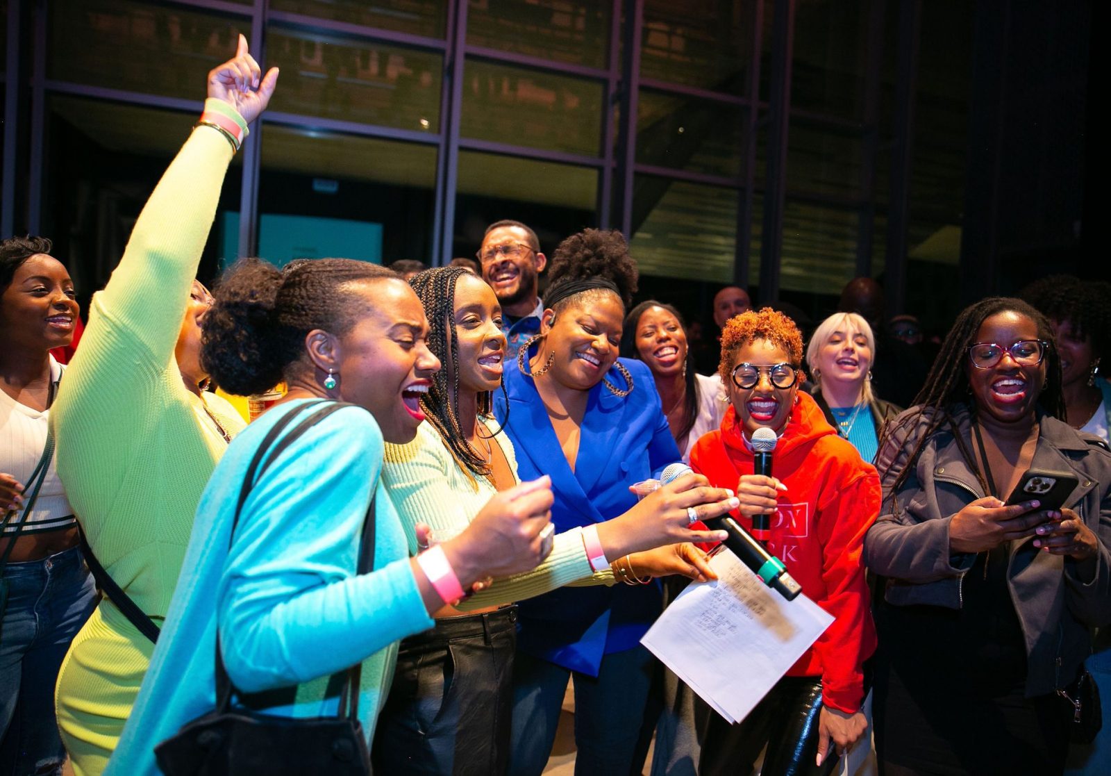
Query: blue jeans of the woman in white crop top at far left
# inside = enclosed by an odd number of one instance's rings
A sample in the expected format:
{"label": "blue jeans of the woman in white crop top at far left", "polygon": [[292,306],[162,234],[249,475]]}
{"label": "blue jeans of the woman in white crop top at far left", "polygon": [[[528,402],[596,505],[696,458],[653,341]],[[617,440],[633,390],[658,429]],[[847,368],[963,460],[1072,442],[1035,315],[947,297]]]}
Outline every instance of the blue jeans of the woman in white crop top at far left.
{"label": "blue jeans of the woman in white crop top at far left", "polygon": [[54,682],[73,636],[92,614],[96,586],[81,550],[8,564],[0,638],[0,776],[61,774]]}

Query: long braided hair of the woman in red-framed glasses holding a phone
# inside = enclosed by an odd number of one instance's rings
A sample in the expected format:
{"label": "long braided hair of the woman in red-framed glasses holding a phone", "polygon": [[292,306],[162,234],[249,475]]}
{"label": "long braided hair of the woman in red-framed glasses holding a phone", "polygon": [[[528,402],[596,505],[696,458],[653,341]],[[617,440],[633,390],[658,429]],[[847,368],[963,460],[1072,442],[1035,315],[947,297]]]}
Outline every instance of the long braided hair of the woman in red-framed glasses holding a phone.
{"label": "long braided hair of the woman in red-framed glasses holding a phone", "polygon": [[[1057,352],[1053,329],[1045,316],[1021,299],[1008,297],[991,297],[970,305],[957,316],[953,327],[945,335],[945,341],[941,344],[941,350],[930,368],[925,385],[914,397],[915,406],[907,410],[895,422],[888,424],[880,434],[880,450],[883,450],[888,441],[900,430],[908,432],[908,440],[914,439],[907,458],[907,465],[903,466],[891,485],[891,493],[897,493],[903,486],[927,441],[943,426],[952,421],[954,410],[959,405],[968,402],[971,405],[972,411],[975,411],[975,401],[971,396],[972,387],[969,384],[967,371],[969,348],[975,344],[977,332],[983,326],[983,321],[1000,312],[1018,312],[1030,318],[1038,327],[1038,338],[1049,344],[1044,356],[1045,384],[1038,397],[1038,404],[1054,418],[1064,418],[1064,397],[1061,394],[1061,359]],[[914,429],[920,430],[915,432]],[[954,434],[953,437],[969,468],[979,472],[980,467],[973,460],[971,450],[967,449],[964,440],[959,434]],[[987,485],[983,482],[981,485],[987,491]]]}

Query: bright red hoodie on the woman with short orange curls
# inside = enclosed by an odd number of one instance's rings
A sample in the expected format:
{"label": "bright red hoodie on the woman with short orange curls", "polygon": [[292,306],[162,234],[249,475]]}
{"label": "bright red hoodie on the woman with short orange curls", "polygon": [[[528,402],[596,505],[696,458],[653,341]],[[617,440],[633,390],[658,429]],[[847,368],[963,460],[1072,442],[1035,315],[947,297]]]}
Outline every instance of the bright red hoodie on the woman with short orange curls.
{"label": "bright red hoodie on the woman with short orange curls", "polygon": [[[824,703],[852,714],[864,699],[861,664],[875,651],[862,553],[880,514],[880,477],[809,395],[798,397],[775,446],[772,475],[787,490],[779,494],[768,550],[834,620],[788,675],[821,676]],[[735,489],[741,475],[753,474],[732,407],[721,428],[694,445],[691,467],[720,488]],[[752,527],[751,518],[733,517]]]}

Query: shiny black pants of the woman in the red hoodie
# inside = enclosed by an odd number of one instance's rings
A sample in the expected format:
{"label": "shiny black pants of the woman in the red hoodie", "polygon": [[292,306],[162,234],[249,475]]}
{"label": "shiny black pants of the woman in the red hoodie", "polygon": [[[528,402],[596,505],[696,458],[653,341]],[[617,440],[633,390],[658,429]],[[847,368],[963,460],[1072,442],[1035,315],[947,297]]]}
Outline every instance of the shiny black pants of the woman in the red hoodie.
{"label": "shiny black pants of the woman in the red hoodie", "polygon": [[730,725],[700,698],[695,720],[702,732],[700,776],[752,773],[768,745],[762,776],[820,776],[833,772],[838,756],[832,744],[821,767],[818,755],[818,715],[822,683],[815,677],[784,676],[742,722]]}

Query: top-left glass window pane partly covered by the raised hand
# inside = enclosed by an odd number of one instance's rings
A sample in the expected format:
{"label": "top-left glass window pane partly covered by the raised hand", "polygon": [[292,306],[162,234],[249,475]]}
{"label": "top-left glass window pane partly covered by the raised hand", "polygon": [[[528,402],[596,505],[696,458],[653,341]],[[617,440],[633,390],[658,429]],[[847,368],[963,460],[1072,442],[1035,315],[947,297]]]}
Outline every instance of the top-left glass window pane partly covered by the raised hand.
{"label": "top-left glass window pane partly covered by the raised hand", "polygon": [[[51,2],[50,78],[204,98],[209,70],[236,53],[250,21],[129,0]],[[126,52],[126,56],[124,56]]]}

